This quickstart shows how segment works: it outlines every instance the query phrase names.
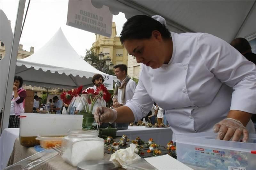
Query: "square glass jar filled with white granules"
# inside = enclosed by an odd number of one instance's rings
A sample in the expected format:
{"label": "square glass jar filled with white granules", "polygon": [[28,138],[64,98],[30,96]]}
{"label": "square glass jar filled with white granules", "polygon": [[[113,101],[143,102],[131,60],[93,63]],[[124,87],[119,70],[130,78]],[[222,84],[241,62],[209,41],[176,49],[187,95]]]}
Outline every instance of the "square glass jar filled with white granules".
{"label": "square glass jar filled with white granules", "polygon": [[72,166],[85,160],[99,160],[104,157],[104,139],[96,130],[69,130],[62,138],[61,157]]}

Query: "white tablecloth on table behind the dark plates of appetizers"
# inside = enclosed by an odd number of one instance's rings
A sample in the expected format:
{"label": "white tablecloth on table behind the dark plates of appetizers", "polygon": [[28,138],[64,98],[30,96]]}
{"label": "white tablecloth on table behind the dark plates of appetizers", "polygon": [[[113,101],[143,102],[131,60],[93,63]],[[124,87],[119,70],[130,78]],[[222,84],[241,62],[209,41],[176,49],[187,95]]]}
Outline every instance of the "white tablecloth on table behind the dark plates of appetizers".
{"label": "white tablecloth on table behind the dark plates of appetizers", "polygon": [[140,137],[145,142],[150,137],[161,146],[166,145],[172,140],[171,128],[146,128],[143,126],[129,126],[125,130],[117,130],[116,136],[126,135],[130,140],[135,140],[136,137]]}

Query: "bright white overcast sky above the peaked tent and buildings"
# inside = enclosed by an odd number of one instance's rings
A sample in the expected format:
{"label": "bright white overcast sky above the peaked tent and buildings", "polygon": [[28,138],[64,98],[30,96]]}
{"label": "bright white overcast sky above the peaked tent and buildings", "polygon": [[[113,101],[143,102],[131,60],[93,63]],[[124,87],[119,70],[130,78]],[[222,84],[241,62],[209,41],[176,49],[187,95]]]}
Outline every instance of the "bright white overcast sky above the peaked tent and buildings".
{"label": "bright white overcast sky above the peaked tent and buildings", "polygon": [[[18,0],[0,0],[0,9],[4,11],[11,21],[12,32],[18,10]],[[27,10],[26,1],[24,17]],[[95,34],[66,26],[68,13],[68,0],[31,0],[28,8],[20,44],[23,49],[30,51],[30,46],[35,47],[36,52],[40,49],[56,31],[61,27],[66,38],[76,52],[84,56],[85,49],[90,49],[95,41]],[[117,36],[121,33],[126,18],[123,13],[113,15],[113,22],[116,22]]]}

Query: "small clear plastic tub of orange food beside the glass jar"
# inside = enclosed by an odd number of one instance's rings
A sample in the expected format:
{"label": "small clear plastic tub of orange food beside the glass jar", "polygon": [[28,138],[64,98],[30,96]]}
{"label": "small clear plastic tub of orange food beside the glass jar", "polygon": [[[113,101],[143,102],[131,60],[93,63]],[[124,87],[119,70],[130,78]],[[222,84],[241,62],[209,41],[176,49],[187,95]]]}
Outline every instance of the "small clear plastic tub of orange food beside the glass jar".
{"label": "small clear plastic tub of orange food beside the glass jar", "polygon": [[61,140],[64,136],[37,136],[36,140],[40,141],[40,146],[47,149],[50,147],[54,147],[57,144],[61,145]]}

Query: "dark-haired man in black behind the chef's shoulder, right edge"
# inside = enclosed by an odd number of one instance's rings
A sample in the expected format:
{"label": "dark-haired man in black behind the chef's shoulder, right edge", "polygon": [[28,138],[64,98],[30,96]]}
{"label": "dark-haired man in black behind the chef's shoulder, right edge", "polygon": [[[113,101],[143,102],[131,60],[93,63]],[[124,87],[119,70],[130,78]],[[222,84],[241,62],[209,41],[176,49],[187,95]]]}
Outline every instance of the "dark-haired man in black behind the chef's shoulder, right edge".
{"label": "dark-haired man in black behind the chef's shoulder, right edge", "polygon": [[[245,38],[236,38],[231,41],[230,45],[237,49],[244,57],[256,64],[256,54],[252,53],[252,47]],[[252,122],[256,122],[256,115],[252,114]]]}

